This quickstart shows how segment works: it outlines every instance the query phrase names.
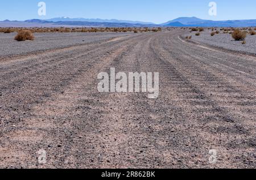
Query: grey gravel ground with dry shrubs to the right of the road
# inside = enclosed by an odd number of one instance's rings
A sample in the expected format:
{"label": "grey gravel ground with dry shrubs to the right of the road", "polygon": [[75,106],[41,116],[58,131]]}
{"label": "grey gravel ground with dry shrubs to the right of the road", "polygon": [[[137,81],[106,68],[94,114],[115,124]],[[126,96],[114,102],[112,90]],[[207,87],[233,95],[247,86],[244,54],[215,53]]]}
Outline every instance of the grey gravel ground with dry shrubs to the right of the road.
{"label": "grey gravel ground with dry shrubs to the right of the road", "polygon": [[[220,30],[218,30],[220,31]],[[185,36],[191,36],[192,40],[206,45],[212,45],[217,48],[228,49],[235,52],[246,53],[249,55],[256,55],[256,35],[251,36],[247,34],[246,44],[242,44],[242,41],[233,40],[230,34],[220,34],[210,36],[211,30],[205,30],[200,32],[200,36],[196,36],[196,32],[188,33]]]}

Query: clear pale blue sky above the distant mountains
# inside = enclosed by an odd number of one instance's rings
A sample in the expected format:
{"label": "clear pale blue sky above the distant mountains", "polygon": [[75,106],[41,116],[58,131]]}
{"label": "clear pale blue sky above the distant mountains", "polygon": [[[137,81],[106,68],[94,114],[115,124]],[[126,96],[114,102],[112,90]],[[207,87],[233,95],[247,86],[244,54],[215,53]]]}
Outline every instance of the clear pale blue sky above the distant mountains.
{"label": "clear pale blue sky above the distant mountains", "polygon": [[[180,16],[202,19],[256,19],[255,0],[42,0],[46,16],[38,15],[40,0],[0,1],[0,20],[101,18],[164,23]],[[209,2],[217,3],[217,16],[208,14]]]}

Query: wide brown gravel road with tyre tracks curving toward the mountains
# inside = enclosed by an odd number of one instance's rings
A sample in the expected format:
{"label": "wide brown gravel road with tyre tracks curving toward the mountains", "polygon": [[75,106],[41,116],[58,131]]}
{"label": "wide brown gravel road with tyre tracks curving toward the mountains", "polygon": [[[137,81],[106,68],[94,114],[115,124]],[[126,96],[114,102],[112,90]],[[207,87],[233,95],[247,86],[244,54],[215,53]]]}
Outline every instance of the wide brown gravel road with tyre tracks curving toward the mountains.
{"label": "wide brown gravel road with tyre tracks curving toward the mountains", "polygon": [[[256,57],[183,33],[0,62],[0,168],[256,168]],[[98,93],[98,73],[112,67],[159,72],[159,98]]]}

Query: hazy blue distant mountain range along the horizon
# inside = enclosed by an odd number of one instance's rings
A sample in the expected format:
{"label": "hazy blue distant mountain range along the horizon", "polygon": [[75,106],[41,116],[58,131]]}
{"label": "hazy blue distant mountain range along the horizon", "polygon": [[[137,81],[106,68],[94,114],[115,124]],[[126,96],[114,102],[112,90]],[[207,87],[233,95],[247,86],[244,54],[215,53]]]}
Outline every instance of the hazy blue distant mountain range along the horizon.
{"label": "hazy blue distant mountain range along the horizon", "polygon": [[85,26],[85,27],[253,27],[256,19],[251,20],[204,20],[196,17],[182,17],[170,20],[163,24],[139,22],[117,19],[85,19],[85,18],[52,18],[47,20],[30,19],[23,22],[4,20],[0,27],[59,27],[59,26]]}

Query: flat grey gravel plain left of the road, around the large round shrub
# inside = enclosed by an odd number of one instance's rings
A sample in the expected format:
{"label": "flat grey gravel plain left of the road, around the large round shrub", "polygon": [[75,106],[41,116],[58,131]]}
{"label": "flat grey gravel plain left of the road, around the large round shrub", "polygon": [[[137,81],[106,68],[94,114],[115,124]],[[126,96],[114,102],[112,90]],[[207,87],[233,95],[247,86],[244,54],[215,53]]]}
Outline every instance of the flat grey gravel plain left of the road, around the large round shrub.
{"label": "flat grey gravel plain left of the road, around the large round shrub", "polygon": [[0,34],[0,56],[23,55],[49,49],[71,47],[73,45],[95,43],[113,37],[127,36],[133,33],[98,32],[98,33],[35,33],[34,41],[15,41],[16,32]]}

